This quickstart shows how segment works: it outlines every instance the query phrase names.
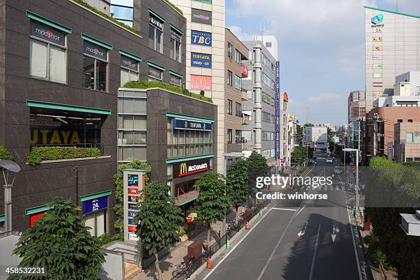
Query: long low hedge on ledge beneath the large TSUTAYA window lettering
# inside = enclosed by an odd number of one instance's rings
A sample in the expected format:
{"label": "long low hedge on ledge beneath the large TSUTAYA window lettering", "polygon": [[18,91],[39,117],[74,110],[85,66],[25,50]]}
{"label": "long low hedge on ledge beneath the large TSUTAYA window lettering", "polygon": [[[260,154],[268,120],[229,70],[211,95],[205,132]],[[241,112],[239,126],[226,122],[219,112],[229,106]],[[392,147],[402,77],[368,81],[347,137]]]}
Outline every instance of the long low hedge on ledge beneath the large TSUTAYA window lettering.
{"label": "long low hedge on ledge beneath the large TSUTAYA window lettering", "polygon": [[34,147],[27,156],[26,163],[29,165],[37,165],[41,161],[82,159],[98,156],[102,156],[102,152],[98,148]]}

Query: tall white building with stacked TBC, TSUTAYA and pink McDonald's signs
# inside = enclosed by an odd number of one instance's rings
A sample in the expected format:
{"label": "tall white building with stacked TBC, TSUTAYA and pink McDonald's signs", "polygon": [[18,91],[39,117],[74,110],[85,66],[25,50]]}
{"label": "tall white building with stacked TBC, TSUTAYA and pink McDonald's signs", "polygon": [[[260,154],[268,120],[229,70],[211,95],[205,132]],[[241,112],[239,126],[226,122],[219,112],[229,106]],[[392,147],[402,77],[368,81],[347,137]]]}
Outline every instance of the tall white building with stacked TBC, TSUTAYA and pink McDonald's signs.
{"label": "tall white building with stacked TBC, TSUTAYA and pink McDonald's signs", "polygon": [[187,18],[186,87],[205,91],[218,106],[217,143],[214,153],[222,172],[224,152],[224,0],[171,0]]}

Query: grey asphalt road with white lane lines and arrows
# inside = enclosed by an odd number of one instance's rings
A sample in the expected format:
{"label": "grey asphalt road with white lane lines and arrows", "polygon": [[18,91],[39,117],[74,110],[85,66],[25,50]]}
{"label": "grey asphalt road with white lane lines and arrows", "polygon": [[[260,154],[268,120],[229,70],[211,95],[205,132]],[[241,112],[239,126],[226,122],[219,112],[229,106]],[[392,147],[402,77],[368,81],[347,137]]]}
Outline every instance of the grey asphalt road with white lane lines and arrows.
{"label": "grey asphalt road with white lane lines and arrows", "polygon": [[[318,159],[308,176],[332,174],[334,163]],[[198,278],[361,279],[346,206],[353,196],[342,181],[342,175],[335,174],[332,186],[310,188],[311,194],[327,194],[327,200],[273,200],[272,209],[235,250]]]}

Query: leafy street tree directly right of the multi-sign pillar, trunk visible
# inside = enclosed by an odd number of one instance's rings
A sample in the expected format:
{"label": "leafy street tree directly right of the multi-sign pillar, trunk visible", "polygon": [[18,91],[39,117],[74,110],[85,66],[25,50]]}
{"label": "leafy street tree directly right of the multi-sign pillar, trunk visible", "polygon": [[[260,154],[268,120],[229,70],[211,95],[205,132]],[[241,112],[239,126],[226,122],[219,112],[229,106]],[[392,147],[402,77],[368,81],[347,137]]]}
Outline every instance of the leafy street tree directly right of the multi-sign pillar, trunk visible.
{"label": "leafy street tree directly right of the multi-sign pillar, trunk visible", "polygon": [[139,203],[136,220],[140,221],[137,235],[143,248],[156,257],[154,265],[160,280],[159,250],[169,249],[180,241],[179,226],[183,222],[179,207],[176,207],[169,194],[170,186],[153,181],[145,187],[145,201]]}

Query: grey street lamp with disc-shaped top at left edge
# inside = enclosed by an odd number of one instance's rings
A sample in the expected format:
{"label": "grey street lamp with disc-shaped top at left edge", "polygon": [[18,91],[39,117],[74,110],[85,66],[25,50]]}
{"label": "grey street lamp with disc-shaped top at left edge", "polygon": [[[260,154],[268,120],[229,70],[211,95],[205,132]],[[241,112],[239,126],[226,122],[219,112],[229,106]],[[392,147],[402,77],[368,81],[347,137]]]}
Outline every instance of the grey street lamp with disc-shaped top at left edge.
{"label": "grey street lamp with disc-shaped top at left edge", "polygon": [[9,172],[18,173],[21,167],[13,161],[0,159],[0,169],[4,178],[4,231],[12,231],[12,186],[16,174],[13,174],[12,183],[9,180]]}

